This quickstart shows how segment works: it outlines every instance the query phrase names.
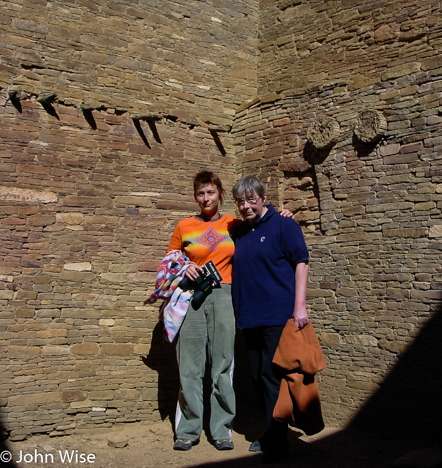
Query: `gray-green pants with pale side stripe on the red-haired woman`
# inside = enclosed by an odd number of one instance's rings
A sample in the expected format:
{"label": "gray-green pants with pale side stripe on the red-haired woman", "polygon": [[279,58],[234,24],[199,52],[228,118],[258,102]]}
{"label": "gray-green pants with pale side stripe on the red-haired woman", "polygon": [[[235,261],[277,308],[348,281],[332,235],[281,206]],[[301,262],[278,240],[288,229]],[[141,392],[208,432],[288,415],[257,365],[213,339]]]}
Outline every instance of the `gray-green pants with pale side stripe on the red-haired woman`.
{"label": "gray-green pants with pale side stripe on the red-haired woman", "polygon": [[235,317],[231,285],[221,284],[198,310],[189,306],[176,339],[180,391],[175,417],[177,438],[196,441],[203,428],[203,377],[206,347],[211,369],[210,433],[214,440],[232,435],[235,394],[232,386]]}

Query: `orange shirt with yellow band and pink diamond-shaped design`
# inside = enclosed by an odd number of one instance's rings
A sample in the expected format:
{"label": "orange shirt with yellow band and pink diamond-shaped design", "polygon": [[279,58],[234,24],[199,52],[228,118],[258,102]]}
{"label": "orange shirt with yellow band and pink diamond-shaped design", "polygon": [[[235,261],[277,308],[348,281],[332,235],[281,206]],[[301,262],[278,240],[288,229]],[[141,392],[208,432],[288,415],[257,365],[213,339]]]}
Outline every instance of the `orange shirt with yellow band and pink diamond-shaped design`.
{"label": "orange shirt with yellow band and pink diamond-shaped design", "polygon": [[211,260],[223,277],[222,283],[231,283],[235,251],[232,233],[241,223],[230,214],[212,221],[196,216],[183,219],[173,231],[167,251],[179,249],[200,267]]}

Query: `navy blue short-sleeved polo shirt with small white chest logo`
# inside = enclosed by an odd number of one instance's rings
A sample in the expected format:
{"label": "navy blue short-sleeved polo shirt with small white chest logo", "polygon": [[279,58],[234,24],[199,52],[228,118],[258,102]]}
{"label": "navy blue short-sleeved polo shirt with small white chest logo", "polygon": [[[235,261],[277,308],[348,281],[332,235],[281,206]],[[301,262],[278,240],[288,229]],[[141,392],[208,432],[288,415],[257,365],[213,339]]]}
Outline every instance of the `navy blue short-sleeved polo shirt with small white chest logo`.
{"label": "navy blue short-sleeved polo shirt with small white chest logo", "polygon": [[295,306],[295,269],[308,262],[300,225],[268,205],[234,233],[232,297],[238,328],[285,325]]}

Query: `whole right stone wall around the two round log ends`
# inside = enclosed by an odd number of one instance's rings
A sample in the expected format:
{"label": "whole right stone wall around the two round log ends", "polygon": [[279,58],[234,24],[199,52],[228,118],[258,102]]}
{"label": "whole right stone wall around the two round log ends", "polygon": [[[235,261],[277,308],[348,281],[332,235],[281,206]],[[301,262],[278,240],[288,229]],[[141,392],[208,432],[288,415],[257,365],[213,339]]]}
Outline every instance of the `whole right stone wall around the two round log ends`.
{"label": "whole right stone wall around the two round log ends", "polygon": [[[308,309],[328,361],[323,411],[338,425],[379,389],[442,300],[440,2],[412,13],[410,2],[354,3],[261,2],[262,94],[238,108],[233,128],[239,170],[266,182],[306,234]],[[363,141],[356,124],[366,111],[385,125]],[[320,117],[339,129],[324,148],[307,139],[315,125],[321,133]],[[437,334],[426,346],[439,356]],[[431,361],[413,380],[430,389],[419,408],[439,401]],[[408,397],[390,396],[395,407]],[[383,424],[409,430],[419,410],[400,417]]]}

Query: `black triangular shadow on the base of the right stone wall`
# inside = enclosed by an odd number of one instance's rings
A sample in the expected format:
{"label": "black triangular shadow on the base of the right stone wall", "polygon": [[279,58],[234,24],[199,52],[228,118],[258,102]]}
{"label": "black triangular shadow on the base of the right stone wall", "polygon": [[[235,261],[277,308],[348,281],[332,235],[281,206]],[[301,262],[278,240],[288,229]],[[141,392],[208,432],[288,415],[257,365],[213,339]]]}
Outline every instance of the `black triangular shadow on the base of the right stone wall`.
{"label": "black triangular shadow on the base of the right stone wall", "polygon": [[349,427],[440,439],[441,423],[442,310],[439,307]]}

